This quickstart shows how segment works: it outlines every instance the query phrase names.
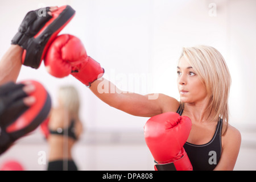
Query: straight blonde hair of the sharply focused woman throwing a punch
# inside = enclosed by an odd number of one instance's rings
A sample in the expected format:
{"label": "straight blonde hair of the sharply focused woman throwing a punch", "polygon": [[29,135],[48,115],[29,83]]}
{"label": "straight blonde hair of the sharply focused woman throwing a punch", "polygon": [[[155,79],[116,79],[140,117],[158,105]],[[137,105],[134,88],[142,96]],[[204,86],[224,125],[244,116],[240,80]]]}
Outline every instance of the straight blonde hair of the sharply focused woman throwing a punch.
{"label": "straight blonde hair of the sharply focused woman throwing a punch", "polygon": [[[183,48],[180,58],[182,56],[195,69],[210,94],[207,108],[210,110],[209,117],[211,116],[215,121],[222,118],[222,135],[224,135],[228,129],[228,97],[231,85],[231,76],[224,57],[217,49],[210,46]],[[184,107],[184,103],[181,105]]]}

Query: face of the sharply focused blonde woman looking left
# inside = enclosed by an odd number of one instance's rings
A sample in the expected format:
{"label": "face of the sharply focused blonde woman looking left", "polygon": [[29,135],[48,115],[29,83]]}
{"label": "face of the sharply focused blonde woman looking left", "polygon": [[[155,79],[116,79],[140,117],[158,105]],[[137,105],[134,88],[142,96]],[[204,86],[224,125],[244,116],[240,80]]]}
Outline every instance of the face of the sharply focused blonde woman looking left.
{"label": "face of the sharply focused blonde woman looking left", "polygon": [[177,88],[181,102],[195,103],[207,98],[205,85],[184,56],[177,65]]}

